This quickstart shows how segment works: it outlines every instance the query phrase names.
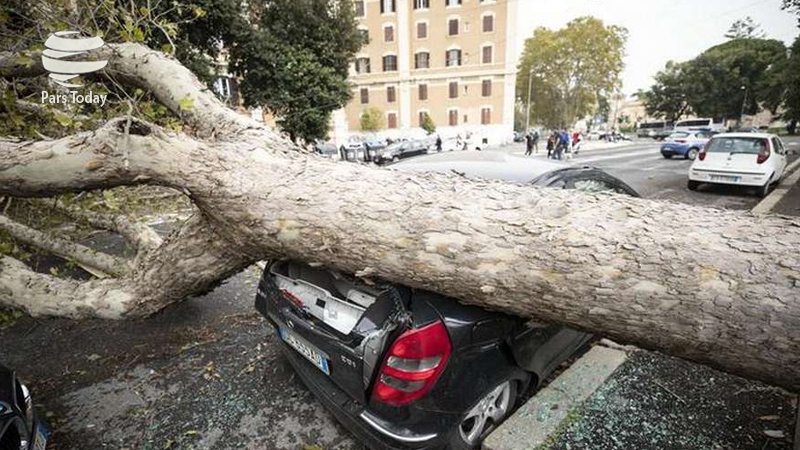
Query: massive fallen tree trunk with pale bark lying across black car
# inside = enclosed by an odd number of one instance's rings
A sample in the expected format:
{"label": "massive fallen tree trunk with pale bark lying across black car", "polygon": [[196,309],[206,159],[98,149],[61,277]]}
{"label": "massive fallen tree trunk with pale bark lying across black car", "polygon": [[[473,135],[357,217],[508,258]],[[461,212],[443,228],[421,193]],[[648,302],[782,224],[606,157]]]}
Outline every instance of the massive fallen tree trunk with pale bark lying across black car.
{"label": "massive fallen tree trunk with pale bark lying across black car", "polygon": [[[218,102],[197,104],[193,120],[223,117]],[[202,217],[113,280],[128,296],[116,317],[287,256],[800,390],[796,220],[337,164],[287,152],[290,143],[242,120],[223,139],[208,127],[196,140],[125,118],[55,141],[2,141],[0,195],[152,183],[189,196]],[[176,281],[185,277],[195,281]],[[22,294],[9,295],[6,278],[8,302]]]}

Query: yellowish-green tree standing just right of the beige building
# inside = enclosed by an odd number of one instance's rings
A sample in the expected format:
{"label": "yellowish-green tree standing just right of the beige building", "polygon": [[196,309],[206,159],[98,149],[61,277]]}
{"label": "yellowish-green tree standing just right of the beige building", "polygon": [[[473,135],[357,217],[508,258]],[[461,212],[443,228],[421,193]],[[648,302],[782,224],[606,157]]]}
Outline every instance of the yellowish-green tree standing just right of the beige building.
{"label": "yellowish-green tree standing just right of the beige building", "polygon": [[553,31],[537,28],[525,41],[518,66],[517,98],[527,102],[531,80],[531,122],[567,126],[593,112],[599,96],[621,85],[628,32],[581,17]]}

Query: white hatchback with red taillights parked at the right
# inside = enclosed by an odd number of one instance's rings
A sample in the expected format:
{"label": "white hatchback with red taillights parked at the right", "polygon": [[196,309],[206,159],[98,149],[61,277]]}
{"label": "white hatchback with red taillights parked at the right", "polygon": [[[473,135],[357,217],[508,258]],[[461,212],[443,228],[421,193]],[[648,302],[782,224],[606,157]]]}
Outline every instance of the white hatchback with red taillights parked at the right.
{"label": "white hatchback with red taillights parked at the right", "polygon": [[783,141],[766,133],[725,133],[711,138],[689,168],[689,190],[701,183],[754,186],[765,197],[786,169]]}

